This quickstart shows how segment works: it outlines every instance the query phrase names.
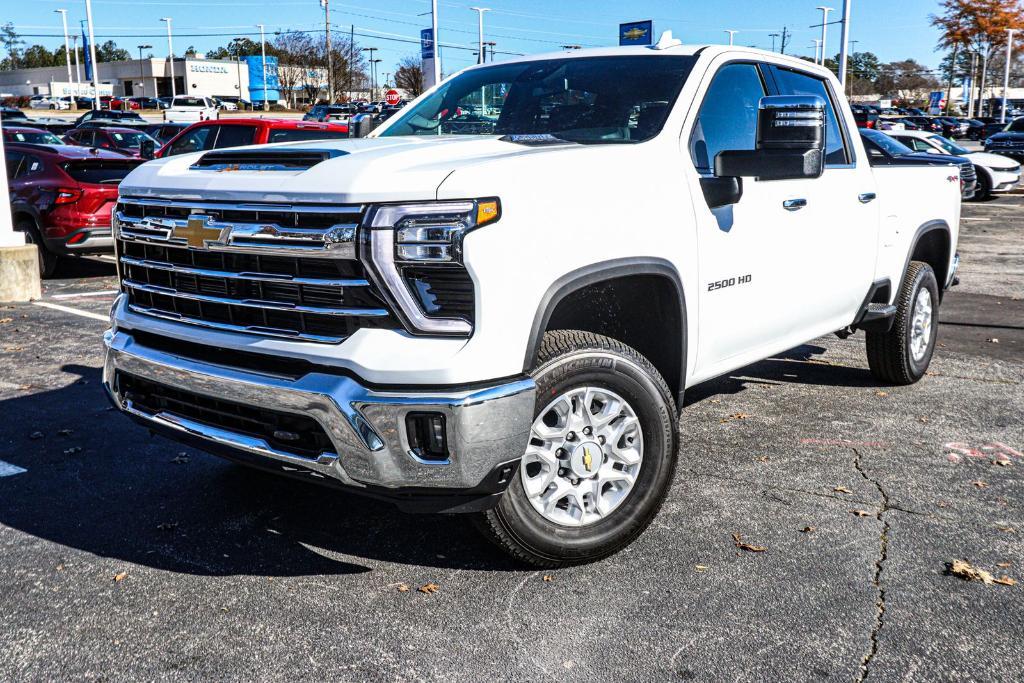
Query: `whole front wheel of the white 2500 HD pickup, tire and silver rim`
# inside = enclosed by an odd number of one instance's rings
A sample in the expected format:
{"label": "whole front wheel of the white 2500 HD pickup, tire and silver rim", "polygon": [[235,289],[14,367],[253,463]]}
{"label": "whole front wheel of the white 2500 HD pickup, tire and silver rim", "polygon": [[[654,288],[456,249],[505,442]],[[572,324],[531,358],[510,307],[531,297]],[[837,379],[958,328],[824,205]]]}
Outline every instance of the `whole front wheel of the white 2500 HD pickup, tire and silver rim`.
{"label": "whole front wheel of the white 2500 HD pickup, tire and silver rim", "polygon": [[675,401],[650,361],[586,332],[547,333],[531,374],[537,407],[519,475],[479,525],[538,566],[611,555],[647,527],[672,484]]}

